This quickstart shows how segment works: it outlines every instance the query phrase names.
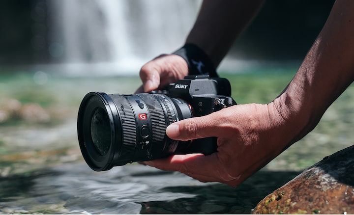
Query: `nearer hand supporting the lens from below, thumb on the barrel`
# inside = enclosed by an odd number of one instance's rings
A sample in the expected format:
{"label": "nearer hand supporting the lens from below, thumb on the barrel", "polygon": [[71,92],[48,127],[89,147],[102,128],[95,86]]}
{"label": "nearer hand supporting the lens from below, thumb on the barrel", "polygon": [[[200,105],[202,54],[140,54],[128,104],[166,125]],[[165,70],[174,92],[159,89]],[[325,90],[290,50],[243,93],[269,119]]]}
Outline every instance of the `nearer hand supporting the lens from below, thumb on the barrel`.
{"label": "nearer hand supporting the lens from below, thumb on the barrel", "polygon": [[274,102],[237,105],[175,122],[166,130],[170,138],[186,141],[216,136],[217,152],[208,156],[173,155],[142,163],[179,171],[202,182],[235,187],[279,155],[291,141],[292,135],[283,129],[286,121],[279,107]]}

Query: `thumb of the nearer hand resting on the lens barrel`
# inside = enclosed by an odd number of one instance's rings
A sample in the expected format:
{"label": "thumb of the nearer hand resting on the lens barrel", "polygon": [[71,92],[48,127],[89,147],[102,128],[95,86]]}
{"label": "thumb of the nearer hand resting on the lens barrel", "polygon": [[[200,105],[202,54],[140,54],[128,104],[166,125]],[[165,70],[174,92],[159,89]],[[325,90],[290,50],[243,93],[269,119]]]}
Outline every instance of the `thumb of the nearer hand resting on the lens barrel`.
{"label": "thumb of the nearer hand resting on the lens barrel", "polygon": [[193,117],[175,122],[166,128],[166,134],[171,139],[187,141],[191,139],[218,136],[215,120],[208,116]]}

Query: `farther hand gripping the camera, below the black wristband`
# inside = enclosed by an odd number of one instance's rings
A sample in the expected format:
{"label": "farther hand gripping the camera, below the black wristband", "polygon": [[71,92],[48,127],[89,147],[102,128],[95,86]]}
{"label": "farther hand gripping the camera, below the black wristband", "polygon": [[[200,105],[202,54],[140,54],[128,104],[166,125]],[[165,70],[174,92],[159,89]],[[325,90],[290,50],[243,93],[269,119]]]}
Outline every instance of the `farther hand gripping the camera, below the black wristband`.
{"label": "farther hand gripping the camera, below the black wristband", "polygon": [[169,83],[188,75],[187,62],[176,54],[163,54],[146,63],[140,70],[143,85],[136,93],[163,89]]}

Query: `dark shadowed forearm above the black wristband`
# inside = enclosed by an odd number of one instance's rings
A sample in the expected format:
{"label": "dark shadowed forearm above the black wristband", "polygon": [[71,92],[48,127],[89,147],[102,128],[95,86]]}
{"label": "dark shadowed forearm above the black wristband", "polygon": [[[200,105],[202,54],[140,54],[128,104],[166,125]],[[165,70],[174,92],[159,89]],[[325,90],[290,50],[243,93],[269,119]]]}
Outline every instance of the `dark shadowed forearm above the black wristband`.
{"label": "dark shadowed forearm above the black wristband", "polygon": [[263,0],[204,0],[186,43],[205,51],[215,67],[247,26]]}

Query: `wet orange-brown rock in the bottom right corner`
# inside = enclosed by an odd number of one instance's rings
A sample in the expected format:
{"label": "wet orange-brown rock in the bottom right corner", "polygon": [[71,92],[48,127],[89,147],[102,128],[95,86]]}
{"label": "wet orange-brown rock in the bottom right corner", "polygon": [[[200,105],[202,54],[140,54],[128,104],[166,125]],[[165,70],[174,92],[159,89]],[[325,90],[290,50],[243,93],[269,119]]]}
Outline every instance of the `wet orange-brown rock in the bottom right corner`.
{"label": "wet orange-brown rock in the bottom right corner", "polygon": [[304,170],[253,214],[354,214],[354,145]]}

